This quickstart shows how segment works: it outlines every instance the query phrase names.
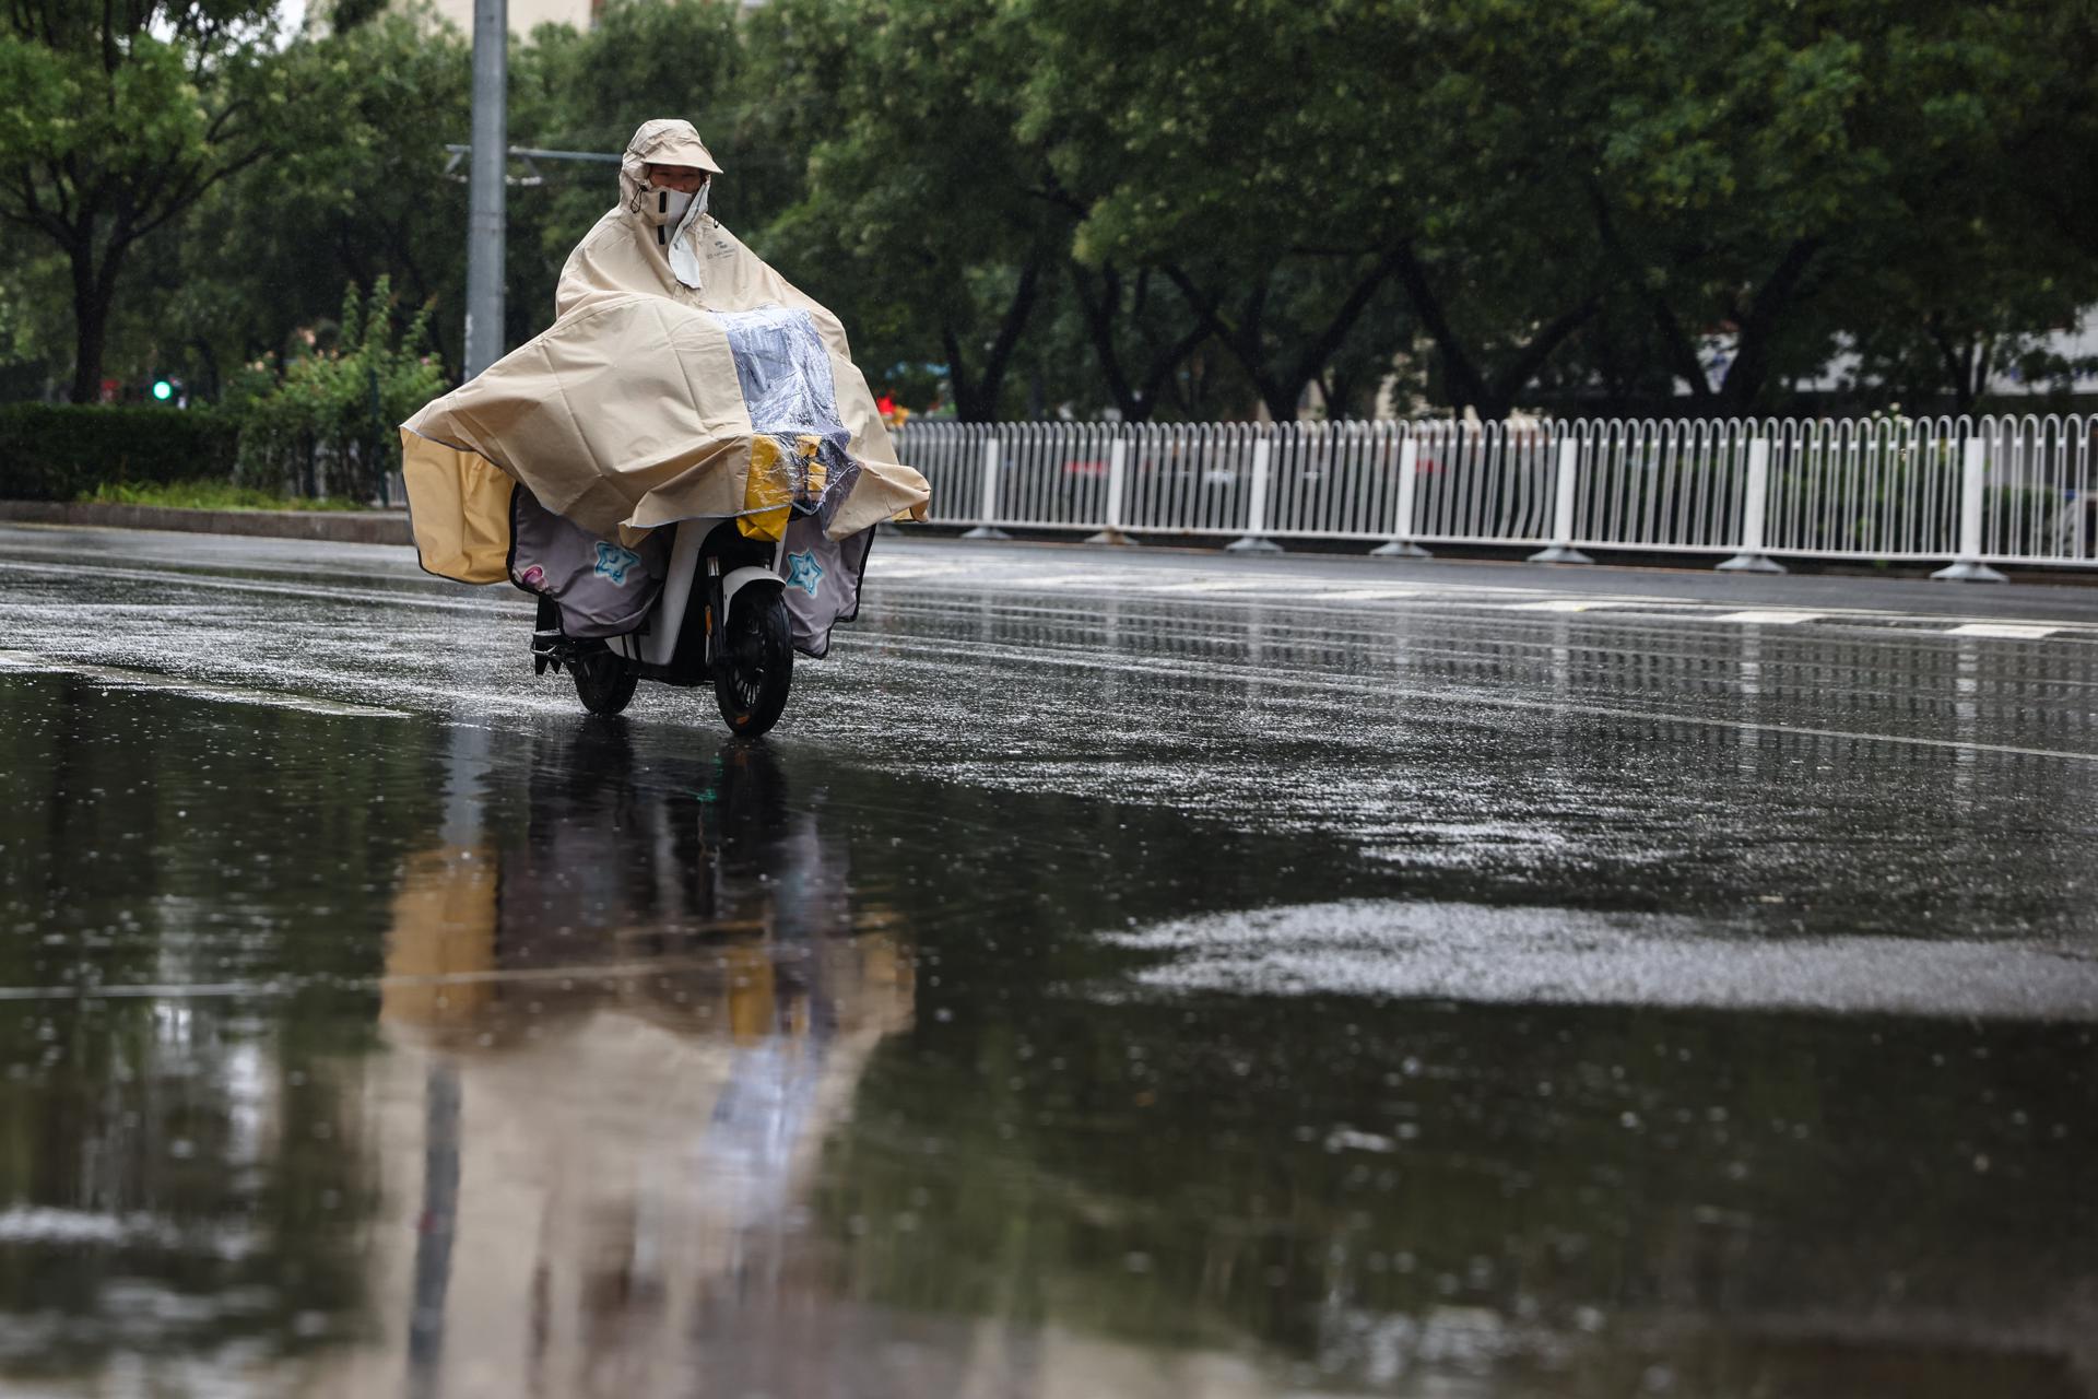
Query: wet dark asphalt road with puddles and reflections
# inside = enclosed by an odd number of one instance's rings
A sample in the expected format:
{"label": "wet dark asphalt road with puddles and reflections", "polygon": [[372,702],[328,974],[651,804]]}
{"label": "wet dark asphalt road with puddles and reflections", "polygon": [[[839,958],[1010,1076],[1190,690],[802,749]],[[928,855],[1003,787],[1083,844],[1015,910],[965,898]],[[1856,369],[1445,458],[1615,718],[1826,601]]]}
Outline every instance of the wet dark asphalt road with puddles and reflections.
{"label": "wet dark asphalt road with puddles and reflections", "polygon": [[0,529],[0,1386],[2094,1395],[2098,591]]}

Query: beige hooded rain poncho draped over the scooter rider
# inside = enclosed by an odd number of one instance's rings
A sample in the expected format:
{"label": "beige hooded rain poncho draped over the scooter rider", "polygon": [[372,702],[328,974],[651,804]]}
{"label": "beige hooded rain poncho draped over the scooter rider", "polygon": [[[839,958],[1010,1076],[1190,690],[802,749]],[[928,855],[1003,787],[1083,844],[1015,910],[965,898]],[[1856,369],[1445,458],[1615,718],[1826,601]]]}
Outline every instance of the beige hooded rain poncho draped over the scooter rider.
{"label": "beige hooded rain poncho draped over the scooter rider", "polygon": [[650,164],[720,170],[688,122],[634,132],[619,208],[560,273],[560,319],[403,424],[430,573],[506,577],[512,480],[627,545],[697,516],[776,537],[789,503],[820,505],[831,539],[925,514],[837,317],[697,201],[673,227],[650,218]]}

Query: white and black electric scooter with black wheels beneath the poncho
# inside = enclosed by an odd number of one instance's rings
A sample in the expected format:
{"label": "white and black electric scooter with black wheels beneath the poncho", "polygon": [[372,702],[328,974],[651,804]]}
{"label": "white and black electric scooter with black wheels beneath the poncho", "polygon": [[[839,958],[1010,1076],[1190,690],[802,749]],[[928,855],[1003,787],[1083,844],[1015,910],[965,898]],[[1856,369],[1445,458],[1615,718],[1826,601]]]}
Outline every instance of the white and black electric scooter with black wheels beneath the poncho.
{"label": "white and black electric scooter with black wheels beneath the poncho", "polygon": [[627,707],[642,680],[711,684],[728,728],[757,736],[778,724],[793,686],[785,535],[749,539],[736,520],[680,520],[663,591],[640,629],[606,640],[571,638],[560,608],[539,596],[533,673],[566,671],[590,713]]}

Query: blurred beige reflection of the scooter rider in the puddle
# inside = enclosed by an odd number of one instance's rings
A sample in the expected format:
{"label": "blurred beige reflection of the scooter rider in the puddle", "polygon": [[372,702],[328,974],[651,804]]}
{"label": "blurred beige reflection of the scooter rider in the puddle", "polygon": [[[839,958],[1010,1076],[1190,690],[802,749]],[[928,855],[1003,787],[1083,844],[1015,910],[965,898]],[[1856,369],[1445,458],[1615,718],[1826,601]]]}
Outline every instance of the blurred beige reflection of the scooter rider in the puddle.
{"label": "blurred beige reflection of the scooter rider in the puddle", "polygon": [[661,1393],[686,1323],[810,1252],[808,1189],[873,1047],[911,1021],[879,910],[766,749],[673,795],[621,724],[535,753],[522,828],[472,818],[451,768],[441,843],[392,902],[365,1147],[378,1336],[302,1372],[317,1393]]}

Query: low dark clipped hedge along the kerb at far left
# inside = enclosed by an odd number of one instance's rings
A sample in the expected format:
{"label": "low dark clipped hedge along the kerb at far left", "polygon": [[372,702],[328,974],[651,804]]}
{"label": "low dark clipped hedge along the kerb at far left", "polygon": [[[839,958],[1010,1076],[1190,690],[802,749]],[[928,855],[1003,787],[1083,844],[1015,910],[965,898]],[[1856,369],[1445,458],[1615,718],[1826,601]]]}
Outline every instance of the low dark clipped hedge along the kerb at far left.
{"label": "low dark clipped hedge along the kerb at far left", "polygon": [[233,476],[239,430],[208,409],[0,405],[0,499],[69,501],[103,482]]}

